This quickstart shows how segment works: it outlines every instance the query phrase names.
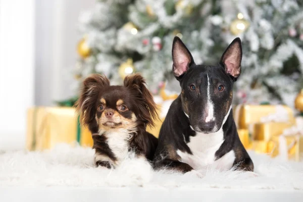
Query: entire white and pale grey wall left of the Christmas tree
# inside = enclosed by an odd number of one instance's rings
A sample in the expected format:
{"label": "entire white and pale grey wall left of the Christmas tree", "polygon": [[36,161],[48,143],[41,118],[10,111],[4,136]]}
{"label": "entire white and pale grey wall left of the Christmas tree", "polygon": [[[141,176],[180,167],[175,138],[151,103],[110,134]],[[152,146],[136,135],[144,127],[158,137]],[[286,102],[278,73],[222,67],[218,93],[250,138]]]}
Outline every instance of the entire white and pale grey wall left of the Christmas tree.
{"label": "entire white and pale grey wall left of the Christmas tree", "polygon": [[0,149],[25,145],[26,110],[71,95],[78,16],[95,0],[0,0]]}

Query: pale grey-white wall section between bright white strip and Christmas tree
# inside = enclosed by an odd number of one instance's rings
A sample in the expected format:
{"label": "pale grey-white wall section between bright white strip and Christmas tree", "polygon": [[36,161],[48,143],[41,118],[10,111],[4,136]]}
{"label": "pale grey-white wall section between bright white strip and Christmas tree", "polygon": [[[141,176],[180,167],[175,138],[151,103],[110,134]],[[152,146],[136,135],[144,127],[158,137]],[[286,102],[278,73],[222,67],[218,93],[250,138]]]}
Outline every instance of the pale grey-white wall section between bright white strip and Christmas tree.
{"label": "pale grey-white wall section between bright white strip and Christmas tree", "polygon": [[71,74],[78,55],[76,44],[81,11],[92,8],[95,0],[36,0],[35,104],[54,105],[69,98]]}

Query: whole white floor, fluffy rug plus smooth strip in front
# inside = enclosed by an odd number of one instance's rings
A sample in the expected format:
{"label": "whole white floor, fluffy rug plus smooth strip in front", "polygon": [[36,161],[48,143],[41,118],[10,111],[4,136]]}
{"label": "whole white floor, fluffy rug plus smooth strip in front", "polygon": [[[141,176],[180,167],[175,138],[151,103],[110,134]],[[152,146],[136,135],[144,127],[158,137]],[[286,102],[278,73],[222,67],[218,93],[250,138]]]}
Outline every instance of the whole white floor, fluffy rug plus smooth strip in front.
{"label": "whole white floor, fluffy rug plus smooth strip in front", "polygon": [[140,159],[116,170],[94,168],[93,150],[59,145],[51,151],[0,151],[0,201],[303,201],[303,162],[249,155],[247,172],[155,172]]}

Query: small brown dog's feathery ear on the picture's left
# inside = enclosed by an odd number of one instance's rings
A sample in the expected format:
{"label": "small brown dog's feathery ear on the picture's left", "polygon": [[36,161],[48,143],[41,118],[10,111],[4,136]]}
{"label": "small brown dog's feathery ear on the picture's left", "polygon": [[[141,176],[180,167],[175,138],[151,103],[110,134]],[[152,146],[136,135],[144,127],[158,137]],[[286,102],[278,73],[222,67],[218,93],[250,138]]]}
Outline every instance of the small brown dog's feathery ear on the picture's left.
{"label": "small brown dog's feathery ear on the picture's left", "polygon": [[95,119],[95,107],[99,91],[109,85],[108,78],[100,74],[92,74],[83,81],[80,97],[75,105],[77,112],[80,113],[82,125],[88,125]]}

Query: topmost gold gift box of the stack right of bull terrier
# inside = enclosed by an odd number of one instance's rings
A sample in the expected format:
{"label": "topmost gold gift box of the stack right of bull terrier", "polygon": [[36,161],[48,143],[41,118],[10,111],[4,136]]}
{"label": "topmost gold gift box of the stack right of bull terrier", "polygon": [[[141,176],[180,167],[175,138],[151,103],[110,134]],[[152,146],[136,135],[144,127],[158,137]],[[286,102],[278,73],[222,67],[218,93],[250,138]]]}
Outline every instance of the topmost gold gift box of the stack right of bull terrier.
{"label": "topmost gold gift box of the stack right of bull terrier", "polygon": [[[239,129],[248,129],[249,124],[258,123],[262,117],[276,113],[275,105],[238,105],[233,111],[234,119]],[[292,110],[283,106],[288,114],[289,123],[294,123],[295,119]]]}

